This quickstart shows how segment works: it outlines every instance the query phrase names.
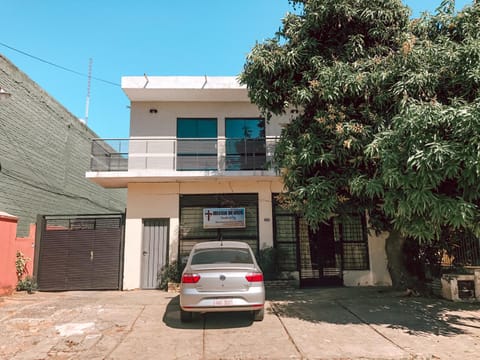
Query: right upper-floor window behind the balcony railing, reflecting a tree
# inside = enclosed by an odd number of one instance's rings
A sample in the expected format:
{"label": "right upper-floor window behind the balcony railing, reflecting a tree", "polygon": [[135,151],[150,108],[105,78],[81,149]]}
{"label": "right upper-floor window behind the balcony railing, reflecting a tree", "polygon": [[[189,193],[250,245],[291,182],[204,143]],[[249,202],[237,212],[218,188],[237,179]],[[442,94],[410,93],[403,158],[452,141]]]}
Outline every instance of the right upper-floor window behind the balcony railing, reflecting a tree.
{"label": "right upper-floor window behind the balcony railing, reflecting a tree", "polygon": [[266,167],[265,120],[225,120],[226,170],[263,170]]}

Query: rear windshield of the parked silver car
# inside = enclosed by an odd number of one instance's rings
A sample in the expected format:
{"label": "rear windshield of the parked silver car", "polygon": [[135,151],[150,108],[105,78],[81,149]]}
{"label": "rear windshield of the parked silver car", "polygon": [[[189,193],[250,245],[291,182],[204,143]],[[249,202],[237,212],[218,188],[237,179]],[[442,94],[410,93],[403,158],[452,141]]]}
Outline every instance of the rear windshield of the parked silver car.
{"label": "rear windshield of the parked silver car", "polygon": [[253,259],[248,249],[199,249],[193,254],[191,264],[253,264]]}

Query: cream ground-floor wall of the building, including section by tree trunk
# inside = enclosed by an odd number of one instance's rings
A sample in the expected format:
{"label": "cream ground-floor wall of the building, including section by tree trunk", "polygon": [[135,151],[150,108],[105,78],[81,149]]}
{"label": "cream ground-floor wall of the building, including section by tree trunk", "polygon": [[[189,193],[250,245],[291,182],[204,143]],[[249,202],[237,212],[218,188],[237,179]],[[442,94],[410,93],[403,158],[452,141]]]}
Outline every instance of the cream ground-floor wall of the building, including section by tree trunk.
{"label": "cream ground-floor wall of the building, including section by tree trunk", "polygon": [[[142,259],[142,219],[170,219],[170,260],[178,252],[179,195],[210,193],[258,193],[260,248],[273,246],[272,193],[282,191],[278,181],[224,181],[163,184],[130,184],[125,229],[124,289],[140,287]],[[389,286],[385,239],[387,234],[368,236],[370,269],[344,271],[346,286]]]}

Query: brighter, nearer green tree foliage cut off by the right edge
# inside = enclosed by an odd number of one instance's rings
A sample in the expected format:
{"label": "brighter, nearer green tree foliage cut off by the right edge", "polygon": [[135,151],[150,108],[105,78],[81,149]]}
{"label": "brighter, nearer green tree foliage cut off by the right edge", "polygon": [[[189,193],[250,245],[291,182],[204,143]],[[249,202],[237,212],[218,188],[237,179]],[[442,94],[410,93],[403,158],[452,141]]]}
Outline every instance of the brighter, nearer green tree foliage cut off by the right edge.
{"label": "brighter, nearer green tree foliage cut off by the right edge", "polygon": [[[402,106],[366,153],[395,229],[420,242],[479,234],[480,5],[454,12],[444,1],[434,16],[411,24],[412,46],[395,66]],[[362,181],[365,180],[365,181]]]}

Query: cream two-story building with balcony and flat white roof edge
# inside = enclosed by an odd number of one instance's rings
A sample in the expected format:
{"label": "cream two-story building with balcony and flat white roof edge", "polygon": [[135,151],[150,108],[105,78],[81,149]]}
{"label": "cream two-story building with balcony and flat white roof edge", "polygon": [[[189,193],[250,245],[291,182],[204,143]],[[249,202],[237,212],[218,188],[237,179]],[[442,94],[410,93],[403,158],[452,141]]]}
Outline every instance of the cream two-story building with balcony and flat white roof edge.
{"label": "cream two-story building with balcony and flat white roof edge", "polygon": [[124,289],[157,287],[163,266],[218,238],[274,253],[279,276],[301,285],[390,284],[385,237],[364,218],[312,231],[279,206],[272,161],[290,114],[265,121],[235,77],[124,77],[122,88],[130,137],[94,140],[87,177],[128,189]]}

